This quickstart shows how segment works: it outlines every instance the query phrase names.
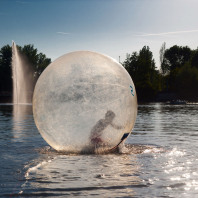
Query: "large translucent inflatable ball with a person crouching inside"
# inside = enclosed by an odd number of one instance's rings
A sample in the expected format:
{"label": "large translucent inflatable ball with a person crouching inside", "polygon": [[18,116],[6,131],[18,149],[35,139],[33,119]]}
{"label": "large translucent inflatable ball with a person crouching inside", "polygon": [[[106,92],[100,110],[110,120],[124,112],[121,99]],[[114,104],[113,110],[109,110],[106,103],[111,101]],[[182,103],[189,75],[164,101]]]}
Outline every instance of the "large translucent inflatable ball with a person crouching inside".
{"label": "large translucent inflatable ball with a person crouching inside", "polygon": [[134,127],[136,91],[114,59],[90,51],[71,52],[39,77],[33,114],[44,140],[58,151],[111,149]]}

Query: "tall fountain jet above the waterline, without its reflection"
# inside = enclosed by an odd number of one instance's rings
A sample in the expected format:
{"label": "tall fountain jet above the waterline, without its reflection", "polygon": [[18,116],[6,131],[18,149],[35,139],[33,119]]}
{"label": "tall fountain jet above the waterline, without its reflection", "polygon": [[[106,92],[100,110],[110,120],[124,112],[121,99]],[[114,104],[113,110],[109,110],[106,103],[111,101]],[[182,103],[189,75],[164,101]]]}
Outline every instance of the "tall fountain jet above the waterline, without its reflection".
{"label": "tall fountain jet above the waterline, without its reflection", "polygon": [[25,58],[12,42],[12,76],[13,103],[24,104],[32,102],[33,71]]}

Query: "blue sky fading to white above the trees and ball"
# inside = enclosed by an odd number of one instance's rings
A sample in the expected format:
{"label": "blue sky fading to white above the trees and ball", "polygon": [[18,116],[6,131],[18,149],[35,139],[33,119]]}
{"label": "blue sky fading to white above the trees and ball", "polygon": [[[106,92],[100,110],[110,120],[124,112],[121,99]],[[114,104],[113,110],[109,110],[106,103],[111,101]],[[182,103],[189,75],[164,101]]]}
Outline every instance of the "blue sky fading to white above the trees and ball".
{"label": "blue sky fading to white above the trees and ball", "polygon": [[[0,0],[0,48],[33,44],[52,61],[78,50],[123,62],[149,46],[198,47],[198,0]],[[120,57],[120,58],[119,58]]]}

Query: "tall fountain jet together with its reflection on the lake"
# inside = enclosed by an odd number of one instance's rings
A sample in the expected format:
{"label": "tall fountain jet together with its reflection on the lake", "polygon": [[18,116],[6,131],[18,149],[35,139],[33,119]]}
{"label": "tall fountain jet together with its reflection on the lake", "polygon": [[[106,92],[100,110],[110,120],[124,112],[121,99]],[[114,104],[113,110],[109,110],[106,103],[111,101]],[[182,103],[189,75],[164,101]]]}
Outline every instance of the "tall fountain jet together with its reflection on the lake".
{"label": "tall fountain jet together with its reflection on the lake", "polygon": [[32,108],[34,88],[33,69],[26,56],[20,53],[12,42],[12,79],[13,79],[13,137],[22,137],[24,125]]}

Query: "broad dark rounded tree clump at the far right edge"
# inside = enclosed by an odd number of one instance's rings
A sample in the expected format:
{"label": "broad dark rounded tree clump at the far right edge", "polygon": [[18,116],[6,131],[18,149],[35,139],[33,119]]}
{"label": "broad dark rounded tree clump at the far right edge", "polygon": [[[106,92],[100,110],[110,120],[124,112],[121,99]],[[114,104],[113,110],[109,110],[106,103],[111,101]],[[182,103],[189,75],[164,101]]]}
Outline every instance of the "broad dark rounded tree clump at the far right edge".
{"label": "broad dark rounded tree clump at the far right edge", "polygon": [[179,98],[197,100],[198,49],[174,45],[165,50],[161,70],[166,76],[166,90]]}

